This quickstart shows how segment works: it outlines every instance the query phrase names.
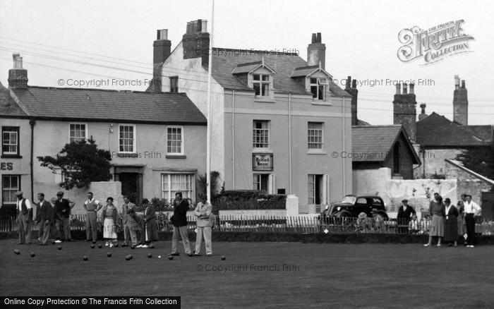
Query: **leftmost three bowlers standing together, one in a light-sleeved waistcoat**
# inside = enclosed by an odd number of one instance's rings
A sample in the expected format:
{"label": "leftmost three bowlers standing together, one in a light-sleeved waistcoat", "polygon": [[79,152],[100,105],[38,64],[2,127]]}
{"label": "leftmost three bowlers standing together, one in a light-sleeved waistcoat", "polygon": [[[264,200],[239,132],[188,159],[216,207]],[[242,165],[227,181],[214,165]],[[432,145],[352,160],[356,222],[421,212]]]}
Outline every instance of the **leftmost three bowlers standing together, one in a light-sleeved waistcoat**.
{"label": "leftmost three bowlers standing together, one in a light-sleeved waistcoat", "polygon": [[64,198],[63,192],[59,191],[56,193],[56,198],[51,198],[49,201],[44,199],[44,193],[38,193],[38,202],[35,203],[24,198],[22,191],[16,192],[16,197],[19,245],[31,243],[33,225],[38,228],[40,246],[47,246],[49,239],[56,243],[72,241],[70,215],[75,204]]}

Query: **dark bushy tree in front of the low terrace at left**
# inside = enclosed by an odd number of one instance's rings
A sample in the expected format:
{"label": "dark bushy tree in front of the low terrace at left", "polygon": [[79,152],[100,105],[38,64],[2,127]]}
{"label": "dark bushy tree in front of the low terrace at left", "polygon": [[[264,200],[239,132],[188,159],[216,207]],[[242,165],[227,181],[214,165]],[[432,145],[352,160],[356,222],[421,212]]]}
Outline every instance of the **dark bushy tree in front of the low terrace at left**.
{"label": "dark bushy tree in front of the low terrace at left", "polygon": [[97,148],[95,140],[83,140],[66,144],[56,157],[37,157],[41,166],[56,172],[61,170],[64,181],[59,183],[61,188],[88,187],[92,181],[109,181],[110,161],[112,156],[108,150]]}

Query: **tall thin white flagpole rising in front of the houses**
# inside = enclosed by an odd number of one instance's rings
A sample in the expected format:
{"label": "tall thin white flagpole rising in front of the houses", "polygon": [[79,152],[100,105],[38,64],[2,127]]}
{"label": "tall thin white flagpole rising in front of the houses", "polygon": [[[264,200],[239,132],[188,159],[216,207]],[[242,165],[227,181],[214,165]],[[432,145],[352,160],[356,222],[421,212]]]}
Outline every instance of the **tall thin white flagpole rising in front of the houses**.
{"label": "tall thin white flagpole rising in front of the houses", "polygon": [[206,138],[206,194],[207,202],[211,202],[211,122],[212,122],[212,107],[211,107],[211,74],[212,74],[212,34],[215,23],[215,0],[212,0],[211,6],[211,32],[210,32],[210,48],[207,63],[207,138]]}

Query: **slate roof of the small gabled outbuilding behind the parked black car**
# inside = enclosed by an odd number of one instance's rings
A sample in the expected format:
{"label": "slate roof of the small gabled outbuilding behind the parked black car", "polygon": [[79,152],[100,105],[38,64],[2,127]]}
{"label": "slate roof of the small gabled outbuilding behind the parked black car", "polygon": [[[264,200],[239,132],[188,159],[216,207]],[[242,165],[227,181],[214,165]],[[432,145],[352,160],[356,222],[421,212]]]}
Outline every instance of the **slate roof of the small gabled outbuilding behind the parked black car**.
{"label": "slate roof of the small gabled outbuilding behind the parked black car", "polygon": [[420,164],[420,159],[401,125],[352,126],[351,152],[356,154],[352,156],[352,162],[385,161],[399,135],[404,135],[406,145],[414,157],[413,164]]}

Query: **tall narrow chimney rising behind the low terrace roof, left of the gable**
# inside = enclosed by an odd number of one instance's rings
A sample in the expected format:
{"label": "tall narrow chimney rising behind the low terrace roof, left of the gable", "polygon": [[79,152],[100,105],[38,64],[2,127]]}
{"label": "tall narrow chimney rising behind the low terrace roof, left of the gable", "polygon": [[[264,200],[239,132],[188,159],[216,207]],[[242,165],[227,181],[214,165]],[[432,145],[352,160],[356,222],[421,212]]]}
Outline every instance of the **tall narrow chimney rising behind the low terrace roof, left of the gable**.
{"label": "tall narrow chimney rising behind the low terrace roof, left of the gable", "polygon": [[147,91],[162,91],[162,66],[171,54],[171,41],[168,40],[168,29],[157,30],[156,40],[152,43],[152,82]]}

